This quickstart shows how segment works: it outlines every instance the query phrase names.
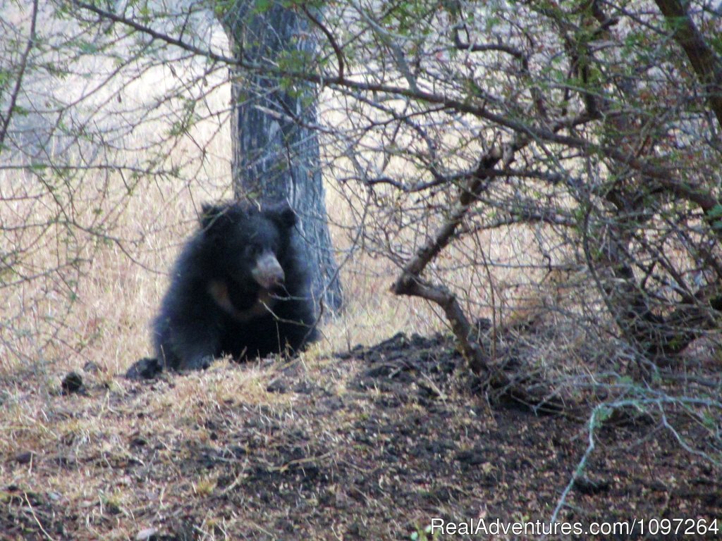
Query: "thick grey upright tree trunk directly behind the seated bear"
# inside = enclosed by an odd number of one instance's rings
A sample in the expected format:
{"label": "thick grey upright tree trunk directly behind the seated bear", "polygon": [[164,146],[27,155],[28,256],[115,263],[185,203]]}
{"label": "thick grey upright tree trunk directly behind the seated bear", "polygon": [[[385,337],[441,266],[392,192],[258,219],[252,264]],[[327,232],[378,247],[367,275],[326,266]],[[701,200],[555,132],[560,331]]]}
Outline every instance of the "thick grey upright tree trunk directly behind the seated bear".
{"label": "thick grey upright tree trunk directly behind the seated bear", "polygon": [[[316,43],[308,19],[280,2],[258,9],[238,1],[222,20],[236,55],[248,63],[277,65],[313,59]],[[342,305],[321,181],[316,124],[316,89],[245,71],[232,74],[232,177],[235,198],[264,205],[288,201],[300,216],[300,237],[312,276],[316,306],[336,312]]]}

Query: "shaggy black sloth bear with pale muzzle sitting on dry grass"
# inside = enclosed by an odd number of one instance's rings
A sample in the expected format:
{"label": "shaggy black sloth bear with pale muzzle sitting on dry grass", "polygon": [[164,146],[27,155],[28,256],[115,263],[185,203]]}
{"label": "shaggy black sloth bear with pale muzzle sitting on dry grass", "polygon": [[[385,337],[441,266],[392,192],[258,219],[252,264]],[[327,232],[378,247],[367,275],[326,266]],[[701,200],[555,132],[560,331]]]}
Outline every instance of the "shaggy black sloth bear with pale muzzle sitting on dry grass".
{"label": "shaggy black sloth bear with pale muzzle sitting on dry grass", "polygon": [[204,205],[201,227],[175,263],[154,323],[158,361],[204,369],[293,353],[316,340],[310,280],[295,249],[296,215],[286,204]]}

